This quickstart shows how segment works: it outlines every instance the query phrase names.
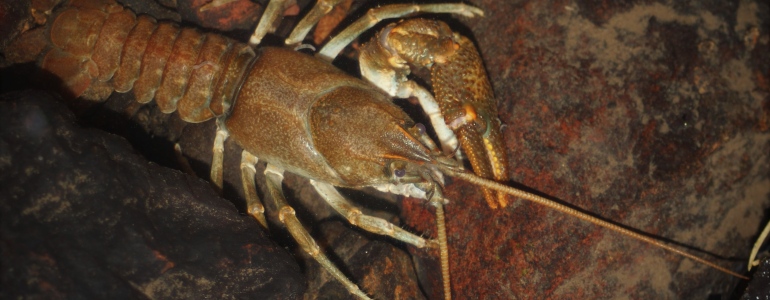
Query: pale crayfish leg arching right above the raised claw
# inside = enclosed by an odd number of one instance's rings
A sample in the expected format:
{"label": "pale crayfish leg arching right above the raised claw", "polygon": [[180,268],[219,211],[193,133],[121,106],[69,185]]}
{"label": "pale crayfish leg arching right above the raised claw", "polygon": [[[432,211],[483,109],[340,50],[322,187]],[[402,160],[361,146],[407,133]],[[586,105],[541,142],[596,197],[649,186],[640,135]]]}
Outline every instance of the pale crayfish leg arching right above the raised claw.
{"label": "pale crayfish leg arching right above the raised claw", "polygon": [[350,42],[356,39],[361,33],[369,30],[377,23],[386,19],[406,17],[416,13],[454,13],[466,17],[482,16],[484,12],[481,9],[457,3],[442,4],[393,4],[370,9],[365,16],[356,20],[353,24],[345,28],[340,34],[326,43],[318,56],[327,60],[333,60],[337,54],[342,51]]}

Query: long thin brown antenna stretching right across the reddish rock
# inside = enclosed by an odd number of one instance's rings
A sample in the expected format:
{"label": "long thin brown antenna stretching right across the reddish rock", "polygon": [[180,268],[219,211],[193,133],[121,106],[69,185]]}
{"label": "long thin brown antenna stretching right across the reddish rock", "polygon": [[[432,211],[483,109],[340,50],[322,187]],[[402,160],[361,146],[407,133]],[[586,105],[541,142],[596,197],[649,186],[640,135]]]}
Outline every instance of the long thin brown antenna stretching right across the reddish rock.
{"label": "long thin brown antenna stretching right across the reddish rock", "polygon": [[613,223],[604,221],[604,220],[599,219],[597,217],[594,217],[594,216],[588,215],[588,214],[586,214],[584,212],[578,211],[578,210],[576,210],[574,208],[568,207],[568,206],[563,205],[563,204],[559,204],[559,203],[557,203],[557,202],[555,202],[553,200],[546,199],[546,198],[540,197],[538,195],[535,195],[535,194],[532,194],[532,193],[528,193],[528,192],[525,192],[525,191],[522,191],[522,190],[519,190],[519,189],[516,189],[516,188],[512,188],[512,187],[509,187],[509,186],[506,186],[506,185],[503,185],[503,184],[500,184],[500,183],[497,183],[497,182],[494,182],[494,181],[491,181],[491,180],[487,180],[487,179],[478,177],[478,176],[470,174],[470,173],[456,171],[456,170],[453,170],[453,169],[445,167],[445,166],[439,165],[438,168],[444,174],[447,174],[449,176],[465,180],[467,182],[476,184],[478,186],[482,186],[482,187],[493,189],[493,190],[496,190],[496,191],[499,191],[499,192],[503,192],[503,193],[506,193],[506,194],[514,196],[514,197],[518,197],[518,198],[521,198],[521,199],[524,199],[524,200],[529,200],[529,201],[536,202],[536,203],[541,204],[541,205],[545,205],[547,207],[550,207],[552,209],[558,210],[558,211],[563,212],[565,214],[568,214],[568,215],[574,216],[576,218],[588,221],[590,223],[599,225],[601,227],[610,229],[612,231],[615,231],[615,232],[620,233],[622,235],[625,235],[627,237],[634,238],[634,239],[640,240],[642,242],[646,242],[646,243],[655,245],[655,246],[657,246],[659,248],[663,248],[663,249],[666,249],[668,251],[674,252],[676,254],[679,254],[681,256],[687,257],[689,259],[692,259],[694,261],[697,261],[699,263],[702,263],[704,265],[707,265],[709,267],[712,267],[712,268],[717,269],[719,271],[722,271],[724,273],[733,275],[735,277],[738,277],[738,278],[741,278],[741,279],[745,279],[745,280],[749,279],[746,276],[743,276],[741,274],[735,273],[735,272],[730,271],[730,270],[728,270],[726,268],[720,267],[720,266],[718,266],[718,265],[716,265],[716,264],[714,264],[712,262],[709,262],[709,261],[707,261],[705,259],[702,259],[702,258],[697,257],[695,255],[692,255],[690,253],[687,253],[687,252],[684,252],[684,251],[679,250],[677,248],[674,248],[674,247],[672,247],[672,246],[670,246],[668,244],[663,243],[662,241],[659,241],[659,240],[653,239],[651,237],[647,237],[647,236],[638,234],[636,232],[633,232],[633,231],[628,230],[626,228],[620,227],[620,226],[615,225]]}

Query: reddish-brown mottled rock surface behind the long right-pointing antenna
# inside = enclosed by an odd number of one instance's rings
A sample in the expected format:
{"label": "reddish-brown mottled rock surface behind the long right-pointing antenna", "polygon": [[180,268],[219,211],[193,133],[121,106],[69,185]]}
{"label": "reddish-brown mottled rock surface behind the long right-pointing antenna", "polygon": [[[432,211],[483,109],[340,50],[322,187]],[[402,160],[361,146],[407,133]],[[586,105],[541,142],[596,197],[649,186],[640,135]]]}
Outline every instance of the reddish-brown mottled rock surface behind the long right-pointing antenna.
{"label": "reddish-brown mottled rock surface behind the long right-pointing antenna", "polygon": [[[766,1],[473,3],[513,182],[744,272],[770,206]],[[534,204],[490,210],[463,182],[446,195],[458,299],[706,299],[736,281]]]}

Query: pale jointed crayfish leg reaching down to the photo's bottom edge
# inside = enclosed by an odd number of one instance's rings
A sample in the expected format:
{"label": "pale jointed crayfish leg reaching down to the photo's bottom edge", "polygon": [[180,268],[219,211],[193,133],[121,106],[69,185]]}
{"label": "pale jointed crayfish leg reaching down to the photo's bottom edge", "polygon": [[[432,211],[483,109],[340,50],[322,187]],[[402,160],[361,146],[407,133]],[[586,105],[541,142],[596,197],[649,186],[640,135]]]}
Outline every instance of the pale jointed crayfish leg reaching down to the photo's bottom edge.
{"label": "pale jointed crayfish leg reaching down to the photo's bottom edge", "polygon": [[281,182],[283,181],[283,170],[268,164],[265,169],[265,177],[267,188],[270,191],[276,209],[278,209],[279,219],[284,226],[286,226],[286,229],[294,240],[297,241],[297,244],[299,244],[302,250],[320,263],[321,266],[342,283],[351,294],[361,299],[370,299],[356,284],[351,282],[336,266],[334,266],[334,264],[332,264],[329,258],[321,252],[321,248],[315,240],[313,240],[313,237],[310,236],[307,230],[305,230],[305,227],[299,222],[299,219],[297,219],[297,216],[294,213],[294,209],[289,206],[288,202],[286,202],[286,198],[283,196],[283,188],[281,186]]}

